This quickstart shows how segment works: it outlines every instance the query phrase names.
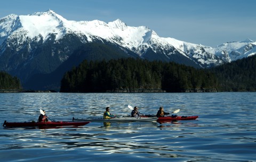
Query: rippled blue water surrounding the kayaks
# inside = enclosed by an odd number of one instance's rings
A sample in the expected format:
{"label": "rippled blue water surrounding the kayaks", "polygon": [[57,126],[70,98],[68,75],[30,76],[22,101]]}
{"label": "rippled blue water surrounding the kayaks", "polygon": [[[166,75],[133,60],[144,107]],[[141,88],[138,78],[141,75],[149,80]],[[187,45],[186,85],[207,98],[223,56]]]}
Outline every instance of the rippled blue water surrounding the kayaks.
{"label": "rippled blue water surrounding the kayaks", "polygon": [[256,161],[256,93],[1,93],[0,122],[52,120],[180,109],[178,123],[90,123],[80,127],[4,128],[1,161]]}

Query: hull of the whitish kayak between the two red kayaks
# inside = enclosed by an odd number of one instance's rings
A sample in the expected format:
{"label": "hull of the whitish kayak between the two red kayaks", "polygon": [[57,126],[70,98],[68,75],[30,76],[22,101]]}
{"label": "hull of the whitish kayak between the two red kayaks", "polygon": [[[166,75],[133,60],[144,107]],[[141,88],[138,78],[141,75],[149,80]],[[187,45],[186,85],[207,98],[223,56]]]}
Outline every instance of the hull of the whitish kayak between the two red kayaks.
{"label": "hull of the whitish kayak between the two red kayaks", "polygon": [[157,120],[157,117],[119,117],[119,118],[111,118],[111,119],[103,119],[103,118],[87,118],[87,119],[79,119],[74,118],[73,121],[86,121],[86,122],[154,122]]}

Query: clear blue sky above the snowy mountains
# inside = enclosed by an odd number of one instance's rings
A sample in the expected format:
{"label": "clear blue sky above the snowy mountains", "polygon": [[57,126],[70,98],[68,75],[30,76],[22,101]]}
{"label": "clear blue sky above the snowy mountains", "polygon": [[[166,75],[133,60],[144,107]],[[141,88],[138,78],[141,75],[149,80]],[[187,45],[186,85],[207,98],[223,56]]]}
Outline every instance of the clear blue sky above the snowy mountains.
{"label": "clear blue sky above the snowy mountains", "polygon": [[0,18],[49,9],[67,20],[120,19],[127,26],[147,26],[161,37],[211,47],[256,41],[255,0],[12,0],[0,2]]}

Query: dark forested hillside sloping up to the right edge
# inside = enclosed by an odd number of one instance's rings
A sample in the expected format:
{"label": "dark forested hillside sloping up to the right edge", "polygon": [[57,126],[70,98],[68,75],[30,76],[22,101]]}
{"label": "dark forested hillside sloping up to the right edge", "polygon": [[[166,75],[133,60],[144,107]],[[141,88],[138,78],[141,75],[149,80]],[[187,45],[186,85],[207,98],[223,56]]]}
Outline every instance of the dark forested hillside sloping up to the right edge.
{"label": "dark forested hillside sloping up to the right edge", "polygon": [[256,91],[256,55],[223,64],[211,71],[218,77],[221,91]]}

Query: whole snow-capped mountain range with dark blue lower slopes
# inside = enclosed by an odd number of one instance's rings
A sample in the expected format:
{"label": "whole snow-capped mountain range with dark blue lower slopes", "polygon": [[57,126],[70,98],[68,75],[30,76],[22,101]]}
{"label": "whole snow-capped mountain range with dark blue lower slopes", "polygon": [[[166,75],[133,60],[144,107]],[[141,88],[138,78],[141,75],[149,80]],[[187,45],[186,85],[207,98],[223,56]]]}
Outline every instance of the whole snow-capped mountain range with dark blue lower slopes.
{"label": "whole snow-capped mountain range with dark blue lower slopes", "polygon": [[210,47],[159,37],[119,19],[70,21],[52,10],[0,19],[0,70],[19,77],[25,89],[58,91],[63,74],[84,59],[132,57],[211,68],[255,53],[249,38]]}

